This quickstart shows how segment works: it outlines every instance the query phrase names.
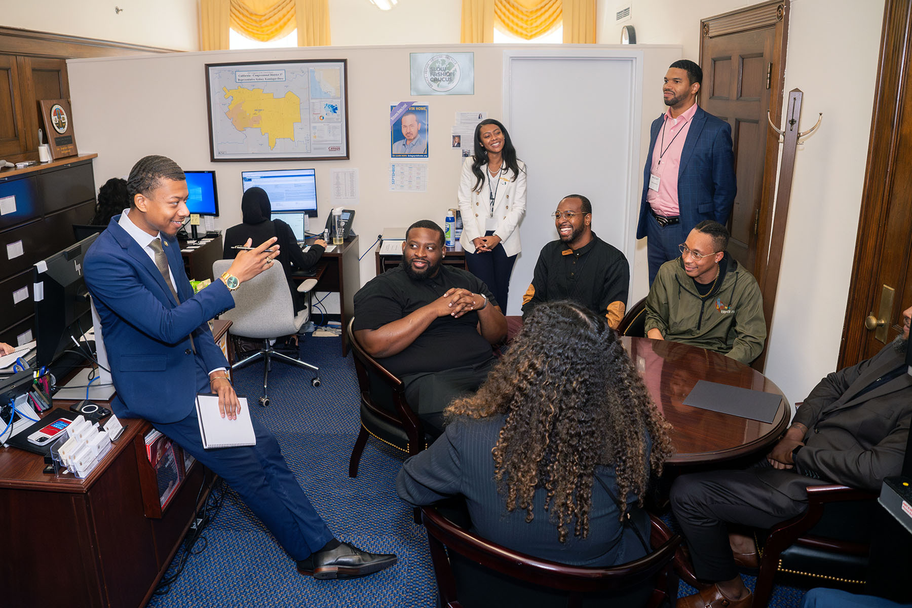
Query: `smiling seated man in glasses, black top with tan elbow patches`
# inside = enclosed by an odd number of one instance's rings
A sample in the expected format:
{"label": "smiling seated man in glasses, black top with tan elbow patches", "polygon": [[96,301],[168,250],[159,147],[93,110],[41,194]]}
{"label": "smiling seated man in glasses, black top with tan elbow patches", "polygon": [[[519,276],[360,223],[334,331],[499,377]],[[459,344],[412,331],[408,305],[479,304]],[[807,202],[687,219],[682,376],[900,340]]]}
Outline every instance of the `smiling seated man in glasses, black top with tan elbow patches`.
{"label": "smiling seated man in glasses, black top with tan elbow patches", "polygon": [[538,255],[523,295],[523,316],[540,302],[569,299],[604,314],[617,328],[627,307],[627,258],[592,232],[592,204],[582,194],[565,196],[552,215],[560,239]]}

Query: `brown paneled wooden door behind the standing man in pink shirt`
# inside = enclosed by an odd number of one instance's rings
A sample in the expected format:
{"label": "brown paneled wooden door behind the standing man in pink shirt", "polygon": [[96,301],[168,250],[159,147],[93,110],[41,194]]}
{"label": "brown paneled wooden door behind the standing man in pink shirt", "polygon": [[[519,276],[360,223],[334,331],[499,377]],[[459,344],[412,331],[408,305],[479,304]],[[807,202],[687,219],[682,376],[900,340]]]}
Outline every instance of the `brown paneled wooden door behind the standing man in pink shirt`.
{"label": "brown paneled wooden door behind the standing man in pink shirt", "polygon": [[787,3],[767,2],[701,24],[700,106],[728,121],[734,145],[738,194],[729,219],[729,253],[758,279],[766,262],[762,228],[769,225],[778,151],[766,116],[768,110],[778,116],[782,104],[786,9]]}

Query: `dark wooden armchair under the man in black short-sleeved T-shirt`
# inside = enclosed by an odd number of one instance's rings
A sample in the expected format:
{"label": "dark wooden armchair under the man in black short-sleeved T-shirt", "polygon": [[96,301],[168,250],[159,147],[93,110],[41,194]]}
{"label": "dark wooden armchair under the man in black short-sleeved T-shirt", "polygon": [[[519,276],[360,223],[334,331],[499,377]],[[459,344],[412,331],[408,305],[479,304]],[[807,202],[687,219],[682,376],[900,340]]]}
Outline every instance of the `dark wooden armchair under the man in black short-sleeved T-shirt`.
{"label": "dark wooden armchair under the man in black short-sleeved T-shirt", "polygon": [[424,426],[405,397],[405,385],[389,373],[377,359],[370,356],[352,331],[354,317],[348,322],[348,345],[355,358],[360,392],[361,429],[348,460],[348,477],[358,477],[361,453],[374,437],[409,456],[428,447],[432,439],[425,435]]}

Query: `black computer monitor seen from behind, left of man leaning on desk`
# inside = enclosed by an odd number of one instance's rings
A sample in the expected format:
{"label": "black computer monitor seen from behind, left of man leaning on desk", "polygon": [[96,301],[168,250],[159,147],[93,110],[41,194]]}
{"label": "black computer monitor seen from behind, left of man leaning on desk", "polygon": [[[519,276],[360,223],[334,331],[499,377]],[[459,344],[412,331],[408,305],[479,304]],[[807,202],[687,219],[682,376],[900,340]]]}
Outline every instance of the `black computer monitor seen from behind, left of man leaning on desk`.
{"label": "black computer monitor seen from behind, left of man leaning on desk", "polygon": [[[59,380],[72,368],[91,362],[90,356],[98,361],[99,376],[91,383],[94,390],[88,391],[89,398],[106,399],[113,394],[101,324],[95,314],[88,295],[82,270],[88,247],[95,242],[98,234],[70,245],[62,252],[51,255],[33,268],[35,294],[35,339],[36,367],[49,367]],[[86,334],[95,326],[96,352],[92,353]],[[107,368],[107,369],[105,369]],[[75,393],[66,398],[85,399],[89,370],[76,376],[70,385]],[[64,398],[57,393],[57,397]]]}

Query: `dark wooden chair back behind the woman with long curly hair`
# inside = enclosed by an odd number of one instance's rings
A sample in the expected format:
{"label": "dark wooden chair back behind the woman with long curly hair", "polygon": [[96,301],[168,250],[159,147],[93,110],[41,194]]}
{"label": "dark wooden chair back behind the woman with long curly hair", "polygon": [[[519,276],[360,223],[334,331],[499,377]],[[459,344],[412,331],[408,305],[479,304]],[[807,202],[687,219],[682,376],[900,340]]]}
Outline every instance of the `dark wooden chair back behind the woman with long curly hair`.
{"label": "dark wooden chair back behind the woman with long curly hair", "polygon": [[444,608],[633,608],[671,605],[678,596],[671,561],[681,537],[651,515],[653,551],[610,568],[570,566],[507,549],[473,534],[436,507],[422,507],[421,520]]}

